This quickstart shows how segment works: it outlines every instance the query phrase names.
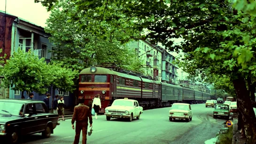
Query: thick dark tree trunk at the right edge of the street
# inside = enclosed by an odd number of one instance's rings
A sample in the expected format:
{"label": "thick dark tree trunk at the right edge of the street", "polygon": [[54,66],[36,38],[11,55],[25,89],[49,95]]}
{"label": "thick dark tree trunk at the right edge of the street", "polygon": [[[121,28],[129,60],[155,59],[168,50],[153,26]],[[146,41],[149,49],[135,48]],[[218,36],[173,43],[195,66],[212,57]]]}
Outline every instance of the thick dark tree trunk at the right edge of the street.
{"label": "thick dark tree trunk at the right edge of the street", "polygon": [[233,80],[233,85],[237,94],[237,103],[243,117],[245,135],[247,144],[256,144],[256,117],[249,97],[249,91],[246,88],[244,79],[239,76]]}

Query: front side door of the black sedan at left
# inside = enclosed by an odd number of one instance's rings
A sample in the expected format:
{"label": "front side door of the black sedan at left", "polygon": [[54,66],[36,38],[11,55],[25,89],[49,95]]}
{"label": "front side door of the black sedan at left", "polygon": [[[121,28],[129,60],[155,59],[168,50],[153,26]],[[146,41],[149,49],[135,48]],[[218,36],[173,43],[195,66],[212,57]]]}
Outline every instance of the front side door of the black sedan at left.
{"label": "front side door of the black sedan at left", "polygon": [[24,122],[23,122],[24,127],[22,128],[22,131],[24,131],[25,134],[30,134],[30,133],[39,131],[38,115],[37,115],[36,106],[34,103],[30,103],[26,105],[25,115],[30,113],[32,115],[25,116]]}

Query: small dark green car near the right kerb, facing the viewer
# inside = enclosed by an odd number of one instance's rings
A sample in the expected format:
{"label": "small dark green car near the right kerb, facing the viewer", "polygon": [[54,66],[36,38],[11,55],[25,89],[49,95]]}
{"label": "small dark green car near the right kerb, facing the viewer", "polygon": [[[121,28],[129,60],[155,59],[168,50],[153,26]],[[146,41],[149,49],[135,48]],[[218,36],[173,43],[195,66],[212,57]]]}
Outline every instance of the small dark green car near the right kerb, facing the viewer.
{"label": "small dark green car near the right kerb, facing the viewer", "polygon": [[229,106],[226,104],[217,104],[213,110],[213,118],[223,117],[229,120]]}

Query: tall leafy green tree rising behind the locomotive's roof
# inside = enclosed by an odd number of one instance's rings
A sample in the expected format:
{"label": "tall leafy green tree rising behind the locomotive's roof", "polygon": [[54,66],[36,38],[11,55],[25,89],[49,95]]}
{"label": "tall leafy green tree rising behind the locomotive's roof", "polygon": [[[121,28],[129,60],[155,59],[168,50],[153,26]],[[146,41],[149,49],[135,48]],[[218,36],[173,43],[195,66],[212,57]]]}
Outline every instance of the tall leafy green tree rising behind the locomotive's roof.
{"label": "tall leafy green tree rising behind the locomotive's roof", "polygon": [[[128,70],[143,71],[140,60],[131,61],[135,58],[134,52],[120,42],[127,37],[123,30],[111,29],[111,24],[100,24],[87,16],[73,20],[70,15],[74,13],[75,5],[64,0],[56,5],[47,19],[45,30],[51,34],[51,42],[58,45],[52,50],[56,61],[79,71],[95,63],[106,62],[115,62],[120,68]],[[83,29],[78,30],[78,23],[83,23]],[[103,35],[109,37],[93,35],[91,29],[106,30]]]}

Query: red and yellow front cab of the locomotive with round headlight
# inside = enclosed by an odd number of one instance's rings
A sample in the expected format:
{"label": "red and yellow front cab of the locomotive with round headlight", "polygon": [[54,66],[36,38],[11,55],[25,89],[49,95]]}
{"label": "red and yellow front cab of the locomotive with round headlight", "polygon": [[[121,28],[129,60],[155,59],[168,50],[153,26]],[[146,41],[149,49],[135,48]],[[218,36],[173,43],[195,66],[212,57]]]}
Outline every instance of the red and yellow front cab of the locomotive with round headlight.
{"label": "red and yellow front cab of the locomotive with round headlight", "polygon": [[85,105],[92,107],[93,99],[100,94],[101,110],[104,113],[105,107],[109,106],[111,95],[111,81],[113,76],[109,74],[109,69],[91,67],[85,68],[79,74],[79,97],[85,99]]}

